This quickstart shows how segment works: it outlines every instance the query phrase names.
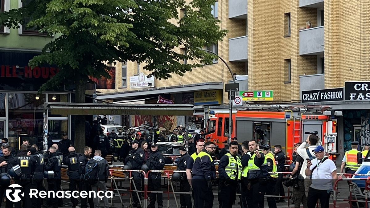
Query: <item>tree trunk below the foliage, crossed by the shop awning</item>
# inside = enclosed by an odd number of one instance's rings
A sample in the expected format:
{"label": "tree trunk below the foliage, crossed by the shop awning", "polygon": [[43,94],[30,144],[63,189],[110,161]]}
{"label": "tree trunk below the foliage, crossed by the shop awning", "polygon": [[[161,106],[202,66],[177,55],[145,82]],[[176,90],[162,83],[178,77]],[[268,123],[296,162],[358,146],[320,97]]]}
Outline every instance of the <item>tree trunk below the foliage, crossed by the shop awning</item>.
{"label": "tree trunk below the foliage, crossed by the shop awning", "polygon": [[[86,81],[76,82],[76,103],[85,103]],[[74,146],[76,152],[83,152],[85,147],[85,115],[75,116]]]}

